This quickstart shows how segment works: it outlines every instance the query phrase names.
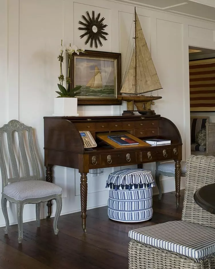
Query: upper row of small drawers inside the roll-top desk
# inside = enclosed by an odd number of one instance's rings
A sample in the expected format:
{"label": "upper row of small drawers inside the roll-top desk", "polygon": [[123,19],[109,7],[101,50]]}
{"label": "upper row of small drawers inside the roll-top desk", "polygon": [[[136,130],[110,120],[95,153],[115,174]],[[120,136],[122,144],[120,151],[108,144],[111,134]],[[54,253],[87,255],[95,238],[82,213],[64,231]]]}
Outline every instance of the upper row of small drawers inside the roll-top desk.
{"label": "upper row of small drawers inside the roll-top desk", "polygon": [[[158,120],[140,120],[126,122],[83,122],[74,123],[79,131],[114,131],[114,130],[134,130],[144,128],[158,128]],[[156,134],[154,134],[156,135]]]}

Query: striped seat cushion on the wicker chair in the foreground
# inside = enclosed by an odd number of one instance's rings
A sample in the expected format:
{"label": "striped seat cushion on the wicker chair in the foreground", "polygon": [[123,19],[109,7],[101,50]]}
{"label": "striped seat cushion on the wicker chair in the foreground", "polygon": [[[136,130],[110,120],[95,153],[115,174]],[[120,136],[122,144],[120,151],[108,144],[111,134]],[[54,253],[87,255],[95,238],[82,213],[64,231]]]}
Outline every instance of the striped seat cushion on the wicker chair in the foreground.
{"label": "striped seat cushion on the wicker chair in the foreground", "polygon": [[132,230],[129,237],[194,259],[215,253],[215,229],[187,221],[169,221]]}

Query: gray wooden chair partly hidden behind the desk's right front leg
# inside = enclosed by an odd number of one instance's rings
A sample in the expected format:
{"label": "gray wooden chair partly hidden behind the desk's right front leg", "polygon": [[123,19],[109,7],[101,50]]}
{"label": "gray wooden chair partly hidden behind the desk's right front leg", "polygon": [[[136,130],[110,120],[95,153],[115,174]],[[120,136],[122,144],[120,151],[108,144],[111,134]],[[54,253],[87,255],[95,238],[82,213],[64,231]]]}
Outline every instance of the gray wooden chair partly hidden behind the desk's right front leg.
{"label": "gray wooden chair partly hidden behind the desk's right front leg", "polygon": [[[158,195],[159,200],[162,197],[160,175],[164,175],[167,177],[175,177],[175,162],[174,161],[165,162],[165,163],[156,162],[155,181],[156,181],[158,191],[159,191],[159,195]],[[185,176],[186,176],[186,162],[181,161],[181,177],[185,177]]]}

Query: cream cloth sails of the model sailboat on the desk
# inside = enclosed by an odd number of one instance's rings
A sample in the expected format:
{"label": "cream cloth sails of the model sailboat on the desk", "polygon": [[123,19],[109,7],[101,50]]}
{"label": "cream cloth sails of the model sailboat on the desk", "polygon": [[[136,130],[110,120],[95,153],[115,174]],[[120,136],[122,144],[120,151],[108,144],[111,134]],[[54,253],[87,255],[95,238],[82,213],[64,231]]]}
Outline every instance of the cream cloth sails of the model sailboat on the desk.
{"label": "cream cloth sails of the model sailboat on the desk", "polygon": [[[160,84],[160,80],[158,78],[136,11],[135,11],[135,18],[136,18],[136,27],[135,27],[136,47],[134,48],[129,71],[126,75],[124,85],[122,86],[120,92],[138,95],[145,92],[151,92],[154,90],[162,89],[162,86]],[[136,57],[134,53],[135,50],[136,50]],[[136,79],[135,79],[135,68],[136,68]]]}

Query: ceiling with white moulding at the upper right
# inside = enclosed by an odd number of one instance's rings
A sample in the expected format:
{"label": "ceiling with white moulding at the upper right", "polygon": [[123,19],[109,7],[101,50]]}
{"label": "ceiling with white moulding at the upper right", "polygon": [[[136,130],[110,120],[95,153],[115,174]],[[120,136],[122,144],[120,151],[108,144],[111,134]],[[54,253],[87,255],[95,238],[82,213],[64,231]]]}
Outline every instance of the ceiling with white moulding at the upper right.
{"label": "ceiling with white moulding at the upper right", "polygon": [[[195,0],[114,0],[121,3],[148,7],[178,15],[215,22],[215,7],[193,2]],[[215,1],[215,0],[214,0]]]}

